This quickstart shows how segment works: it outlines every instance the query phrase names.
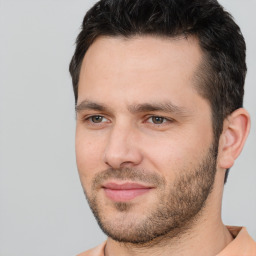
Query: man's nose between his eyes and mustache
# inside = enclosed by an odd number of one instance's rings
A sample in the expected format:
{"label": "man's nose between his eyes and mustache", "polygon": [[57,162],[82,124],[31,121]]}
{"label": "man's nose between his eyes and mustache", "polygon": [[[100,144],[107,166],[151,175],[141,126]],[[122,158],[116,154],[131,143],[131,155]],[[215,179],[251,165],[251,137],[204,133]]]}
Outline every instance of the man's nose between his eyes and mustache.
{"label": "man's nose between his eyes and mustache", "polygon": [[115,125],[105,148],[104,162],[111,168],[133,167],[141,163],[142,152],[136,131],[127,125]]}

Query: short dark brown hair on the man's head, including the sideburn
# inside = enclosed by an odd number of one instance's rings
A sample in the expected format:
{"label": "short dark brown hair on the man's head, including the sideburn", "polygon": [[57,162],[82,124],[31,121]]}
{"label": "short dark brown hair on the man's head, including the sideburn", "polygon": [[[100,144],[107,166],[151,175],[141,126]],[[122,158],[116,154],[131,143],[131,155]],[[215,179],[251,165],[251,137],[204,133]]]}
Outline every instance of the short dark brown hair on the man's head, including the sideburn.
{"label": "short dark brown hair on the man's head, including the sideburn", "polygon": [[246,45],[240,28],[216,0],[105,0],[84,17],[70,63],[75,102],[83,58],[100,36],[151,35],[198,39],[203,61],[197,72],[198,93],[211,105],[218,139],[223,120],[243,106]]}

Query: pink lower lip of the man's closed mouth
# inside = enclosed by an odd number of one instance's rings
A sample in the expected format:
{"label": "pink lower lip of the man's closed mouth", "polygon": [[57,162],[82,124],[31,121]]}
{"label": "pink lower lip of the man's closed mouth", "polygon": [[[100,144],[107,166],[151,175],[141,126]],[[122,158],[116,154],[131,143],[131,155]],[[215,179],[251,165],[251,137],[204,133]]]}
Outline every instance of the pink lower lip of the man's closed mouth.
{"label": "pink lower lip of the man's closed mouth", "polygon": [[116,202],[130,201],[150,191],[150,188],[139,189],[108,189],[104,188],[106,196]]}

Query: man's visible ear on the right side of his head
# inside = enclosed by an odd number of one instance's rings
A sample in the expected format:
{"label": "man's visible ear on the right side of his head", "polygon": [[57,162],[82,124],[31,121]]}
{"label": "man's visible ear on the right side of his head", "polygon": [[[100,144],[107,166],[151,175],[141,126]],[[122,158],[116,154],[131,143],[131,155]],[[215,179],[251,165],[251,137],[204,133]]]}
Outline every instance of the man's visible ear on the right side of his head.
{"label": "man's visible ear on the right side of his head", "polygon": [[244,108],[235,110],[223,123],[219,140],[218,167],[228,169],[241,153],[250,130],[250,115]]}

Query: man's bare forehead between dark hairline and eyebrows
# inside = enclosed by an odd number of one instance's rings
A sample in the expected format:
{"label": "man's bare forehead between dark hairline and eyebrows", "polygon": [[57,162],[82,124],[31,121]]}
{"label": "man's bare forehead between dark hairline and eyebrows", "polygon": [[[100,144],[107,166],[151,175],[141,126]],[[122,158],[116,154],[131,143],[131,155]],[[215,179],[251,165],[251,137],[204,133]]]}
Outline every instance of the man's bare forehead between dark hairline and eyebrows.
{"label": "man's bare forehead between dark hairline and eyebrows", "polygon": [[186,90],[195,93],[201,61],[199,43],[192,37],[99,37],[82,63],[78,102],[90,94],[123,94],[128,100],[166,97],[167,92],[182,96]]}

